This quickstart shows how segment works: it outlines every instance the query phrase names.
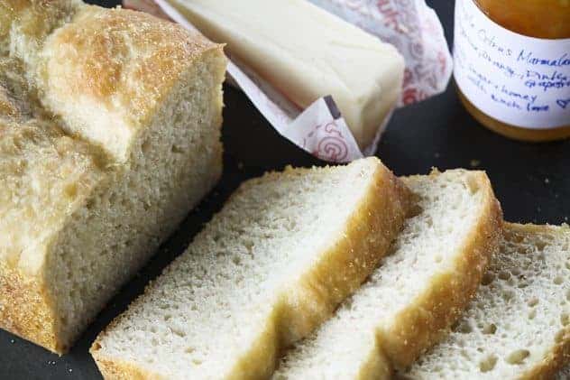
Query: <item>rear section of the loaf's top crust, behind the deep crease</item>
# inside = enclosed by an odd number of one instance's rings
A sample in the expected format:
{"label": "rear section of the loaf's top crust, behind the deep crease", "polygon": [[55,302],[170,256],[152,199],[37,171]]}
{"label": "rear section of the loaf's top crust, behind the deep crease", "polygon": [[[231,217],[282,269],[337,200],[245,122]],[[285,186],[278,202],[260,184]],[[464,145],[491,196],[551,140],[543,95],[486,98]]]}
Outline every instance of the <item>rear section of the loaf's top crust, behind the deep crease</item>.
{"label": "rear section of the loaf's top crust, behind the deep crease", "polygon": [[180,76],[223,49],[150,14],[75,0],[0,0],[0,12],[11,25],[0,29],[0,56],[23,60],[29,88],[67,133],[118,162]]}

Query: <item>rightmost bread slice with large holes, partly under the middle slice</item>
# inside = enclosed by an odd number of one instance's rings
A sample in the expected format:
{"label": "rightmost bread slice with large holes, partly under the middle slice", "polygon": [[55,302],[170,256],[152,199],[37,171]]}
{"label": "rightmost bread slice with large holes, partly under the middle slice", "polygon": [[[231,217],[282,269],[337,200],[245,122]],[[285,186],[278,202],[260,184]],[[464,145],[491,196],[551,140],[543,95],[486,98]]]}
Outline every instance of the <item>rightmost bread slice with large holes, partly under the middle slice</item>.
{"label": "rightmost bread slice with large holes, partly under the middle slice", "polygon": [[570,362],[570,227],[505,226],[453,332],[410,379],[551,379]]}

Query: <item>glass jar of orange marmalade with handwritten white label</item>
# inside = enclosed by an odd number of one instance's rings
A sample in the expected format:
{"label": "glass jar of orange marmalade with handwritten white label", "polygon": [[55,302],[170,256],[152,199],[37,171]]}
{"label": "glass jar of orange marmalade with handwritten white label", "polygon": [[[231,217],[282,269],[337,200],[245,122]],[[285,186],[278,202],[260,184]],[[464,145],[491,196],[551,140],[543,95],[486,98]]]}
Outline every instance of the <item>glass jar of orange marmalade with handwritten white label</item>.
{"label": "glass jar of orange marmalade with handwritten white label", "polygon": [[570,137],[570,0],[456,0],[454,58],[480,123],[523,141]]}

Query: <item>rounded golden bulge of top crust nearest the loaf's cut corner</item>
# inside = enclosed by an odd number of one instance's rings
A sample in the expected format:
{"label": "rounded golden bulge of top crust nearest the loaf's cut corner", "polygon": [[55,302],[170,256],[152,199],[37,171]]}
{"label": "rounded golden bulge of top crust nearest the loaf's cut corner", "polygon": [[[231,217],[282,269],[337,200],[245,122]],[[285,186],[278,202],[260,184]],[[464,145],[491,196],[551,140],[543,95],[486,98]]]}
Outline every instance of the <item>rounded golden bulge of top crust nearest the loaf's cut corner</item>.
{"label": "rounded golden bulge of top crust nearest the loaf's cut corner", "polygon": [[[85,6],[46,41],[45,103],[70,133],[122,161],[179,76],[215,49],[220,45],[149,14]],[[115,144],[116,137],[123,141]]]}

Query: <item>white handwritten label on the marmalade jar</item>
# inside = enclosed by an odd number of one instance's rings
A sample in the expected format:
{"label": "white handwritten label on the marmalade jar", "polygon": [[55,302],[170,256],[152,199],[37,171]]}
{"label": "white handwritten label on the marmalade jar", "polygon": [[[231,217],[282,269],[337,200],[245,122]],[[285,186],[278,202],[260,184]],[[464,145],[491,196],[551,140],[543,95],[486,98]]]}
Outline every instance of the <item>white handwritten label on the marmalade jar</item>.
{"label": "white handwritten label on the marmalade jar", "polygon": [[455,82],[503,123],[570,125],[570,39],[520,35],[492,22],[473,0],[455,2]]}

